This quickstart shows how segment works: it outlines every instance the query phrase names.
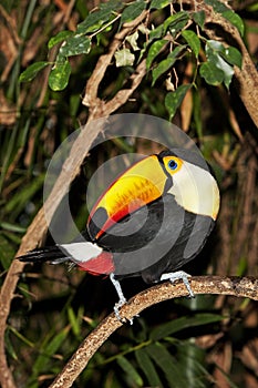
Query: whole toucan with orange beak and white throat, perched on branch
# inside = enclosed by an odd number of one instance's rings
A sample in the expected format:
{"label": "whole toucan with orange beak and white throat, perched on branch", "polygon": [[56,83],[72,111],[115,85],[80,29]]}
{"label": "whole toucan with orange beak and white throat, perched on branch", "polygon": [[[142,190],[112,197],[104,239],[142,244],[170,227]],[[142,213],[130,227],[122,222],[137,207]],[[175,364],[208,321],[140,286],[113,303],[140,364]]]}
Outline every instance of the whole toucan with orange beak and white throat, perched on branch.
{"label": "whole toucan with orange beak and white throat, perched on branch", "polygon": [[104,191],[90,212],[80,239],[35,248],[22,262],[72,262],[94,275],[109,275],[118,303],[120,280],[142,276],[148,283],[182,279],[178,270],[202,251],[219,211],[219,190],[207,163],[187,149],[144,156]]}

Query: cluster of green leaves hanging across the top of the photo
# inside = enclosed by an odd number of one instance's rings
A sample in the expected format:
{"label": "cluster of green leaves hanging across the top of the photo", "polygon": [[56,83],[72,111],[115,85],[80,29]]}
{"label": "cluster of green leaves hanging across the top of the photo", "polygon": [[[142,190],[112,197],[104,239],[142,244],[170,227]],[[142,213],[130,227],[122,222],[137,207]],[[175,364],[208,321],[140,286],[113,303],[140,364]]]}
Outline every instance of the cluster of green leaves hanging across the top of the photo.
{"label": "cluster of green leaves hanging across the top of the photo", "polygon": [[[223,16],[244,34],[242,20],[224,3],[206,0],[206,4],[213,7],[214,12]],[[62,91],[68,86],[71,75],[70,58],[74,55],[90,55],[99,45],[103,35],[110,31],[123,28],[126,23],[136,19],[142,12],[148,14],[152,21],[158,12],[171,9],[171,14],[165,17],[163,23],[152,28],[140,25],[122,42],[115,52],[115,65],[135,67],[141,59],[146,58],[146,68],[152,74],[152,85],[163,75],[169,76],[173,68],[184,58],[190,57],[193,79],[187,85],[172,85],[173,91],[167,93],[165,105],[172,119],[183,99],[190,88],[196,88],[199,74],[209,85],[224,83],[227,89],[231,83],[234,67],[241,68],[241,53],[235,47],[225,47],[216,40],[208,40],[205,35],[205,12],[175,11],[171,1],[144,1],[138,0],[125,4],[114,0],[101,3],[99,9],[91,12],[74,32],[61,31],[49,40],[49,49],[58,45],[54,62],[40,61],[32,63],[20,75],[20,81],[31,81],[39,71],[50,65],[49,86],[53,91]],[[161,53],[165,54],[161,57]],[[165,57],[165,58],[164,58]],[[162,60],[161,60],[162,58]]]}

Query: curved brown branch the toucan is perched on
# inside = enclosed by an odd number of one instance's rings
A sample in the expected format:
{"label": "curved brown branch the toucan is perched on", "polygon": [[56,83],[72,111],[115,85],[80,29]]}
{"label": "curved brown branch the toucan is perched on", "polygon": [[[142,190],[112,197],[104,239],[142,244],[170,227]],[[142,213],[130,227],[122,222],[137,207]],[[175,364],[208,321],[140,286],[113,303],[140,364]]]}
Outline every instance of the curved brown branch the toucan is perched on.
{"label": "curved brown branch the toucan is perched on", "polygon": [[[248,297],[258,300],[258,278],[252,277],[223,277],[223,276],[195,276],[190,278],[190,287],[196,295],[220,294],[236,297]],[[169,282],[148,288],[128,300],[121,308],[121,317],[132,319],[145,308],[161,302],[187,296],[185,285]],[[61,374],[51,384],[50,388],[68,388],[86,367],[90,359],[105,340],[122,326],[113,314],[103,319],[100,325],[83,340],[72,358],[68,361]]]}

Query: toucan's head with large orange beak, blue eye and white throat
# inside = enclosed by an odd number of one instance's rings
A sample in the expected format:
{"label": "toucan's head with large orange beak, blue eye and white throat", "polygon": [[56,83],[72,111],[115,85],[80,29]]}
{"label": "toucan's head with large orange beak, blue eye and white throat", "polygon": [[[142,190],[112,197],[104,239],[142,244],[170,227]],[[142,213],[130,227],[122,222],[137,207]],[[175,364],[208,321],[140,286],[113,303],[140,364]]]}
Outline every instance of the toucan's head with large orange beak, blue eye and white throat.
{"label": "toucan's head with large orange beak, blue eye and white throat", "polygon": [[146,156],[120,175],[96,201],[87,222],[97,241],[116,222],[165,195],[185,211],[214,221],[219,191],[205,161],[192,151],[175,149]]}

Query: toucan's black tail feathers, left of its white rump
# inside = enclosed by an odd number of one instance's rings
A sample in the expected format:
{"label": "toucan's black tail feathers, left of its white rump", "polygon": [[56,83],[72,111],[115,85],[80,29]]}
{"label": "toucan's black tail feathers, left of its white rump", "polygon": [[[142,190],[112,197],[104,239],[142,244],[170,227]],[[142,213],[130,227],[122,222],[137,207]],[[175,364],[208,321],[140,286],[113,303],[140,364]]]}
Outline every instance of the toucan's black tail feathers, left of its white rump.
{"label": "toucan's black tail feathers, left of its white rump", "polygon": [[58,245],[35,248],[17,258],[25,263],[49,262],[51,264],[60,264],[71,259],[71,257],[65,256],[64,252],[61,251]]}

